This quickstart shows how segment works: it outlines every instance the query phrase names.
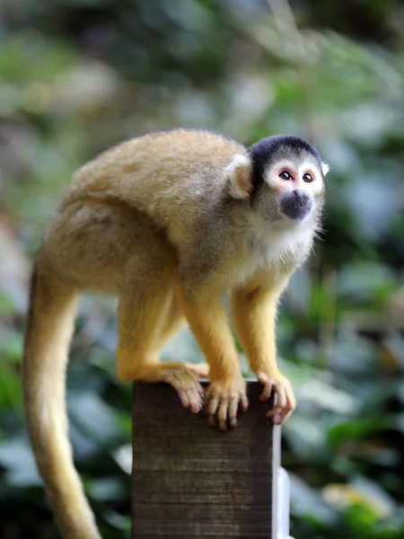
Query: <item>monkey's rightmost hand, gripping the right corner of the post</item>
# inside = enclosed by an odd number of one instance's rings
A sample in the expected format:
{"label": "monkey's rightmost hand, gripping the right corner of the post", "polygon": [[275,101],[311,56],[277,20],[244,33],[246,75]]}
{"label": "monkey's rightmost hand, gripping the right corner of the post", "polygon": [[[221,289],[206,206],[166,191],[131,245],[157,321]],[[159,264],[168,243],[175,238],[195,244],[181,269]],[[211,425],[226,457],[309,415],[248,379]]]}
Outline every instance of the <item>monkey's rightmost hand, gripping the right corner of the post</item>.
{"label": "monkey's rightmost hand, gripping the right corner of the post", "polygon": [[272,393],[277,394],[277,404],[271,411],[268,411],[267,417],[273,418],[275,425],[280,425],[292,415],[296,408],[292,385],[280,373],[272,375],[257,373],[257,378],[264,386],[264,390],[259,397],[261,401],[268,401]]}

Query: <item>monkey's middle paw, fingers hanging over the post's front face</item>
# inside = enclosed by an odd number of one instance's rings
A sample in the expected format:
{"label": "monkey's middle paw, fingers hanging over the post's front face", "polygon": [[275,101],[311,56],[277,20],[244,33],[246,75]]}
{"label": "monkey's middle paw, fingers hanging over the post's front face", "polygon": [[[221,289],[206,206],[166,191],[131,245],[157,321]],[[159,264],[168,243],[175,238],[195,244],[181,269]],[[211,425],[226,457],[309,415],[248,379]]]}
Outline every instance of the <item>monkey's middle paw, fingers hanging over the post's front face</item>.
{"label": "monkey's middle paw, fingers hanging over the post's front face", "polygon": [[249,401],[246,394],[246,384],[242,376],[226,381],[213,380],[206,393],[206,410],[209,415],[209,425],[227,430],[237,424],[237,411],[246,411]]}

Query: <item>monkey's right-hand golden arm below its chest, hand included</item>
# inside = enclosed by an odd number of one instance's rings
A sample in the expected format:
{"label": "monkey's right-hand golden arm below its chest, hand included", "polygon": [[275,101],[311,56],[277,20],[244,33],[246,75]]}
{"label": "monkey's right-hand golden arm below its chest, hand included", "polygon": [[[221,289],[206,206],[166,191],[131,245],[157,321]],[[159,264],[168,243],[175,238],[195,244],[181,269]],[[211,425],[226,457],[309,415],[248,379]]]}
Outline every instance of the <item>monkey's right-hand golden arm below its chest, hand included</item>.
{"label": "monkey's right-hand golden arm below its chest, hand included", "polygon": [[286,420],[296,406],[292,386],[277,368],[277,302],[287,280],[277,285],[247,286],[231,296],[235,329],[251,370],[264,385],[261,399],[267,400],[272,392],[277,393],[277,404],[268,412],[277,424]]}

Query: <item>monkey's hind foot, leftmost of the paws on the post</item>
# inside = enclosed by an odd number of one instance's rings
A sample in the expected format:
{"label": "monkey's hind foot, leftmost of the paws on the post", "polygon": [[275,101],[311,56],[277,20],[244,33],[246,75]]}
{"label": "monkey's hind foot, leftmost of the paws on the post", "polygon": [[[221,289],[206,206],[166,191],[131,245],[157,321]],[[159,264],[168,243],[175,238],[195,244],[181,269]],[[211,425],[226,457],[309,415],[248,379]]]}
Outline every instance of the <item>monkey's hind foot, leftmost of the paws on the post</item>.
{"label": "monkey's hind foot, leftmost of the paws on the post", "polygon": [[163,368],[160,375],[160,381],[172,385],[180,396],[182,406],[189,408],[192,413],[198,413],[203,406],[204,389],[198,378],[198,373],[185,364]]}

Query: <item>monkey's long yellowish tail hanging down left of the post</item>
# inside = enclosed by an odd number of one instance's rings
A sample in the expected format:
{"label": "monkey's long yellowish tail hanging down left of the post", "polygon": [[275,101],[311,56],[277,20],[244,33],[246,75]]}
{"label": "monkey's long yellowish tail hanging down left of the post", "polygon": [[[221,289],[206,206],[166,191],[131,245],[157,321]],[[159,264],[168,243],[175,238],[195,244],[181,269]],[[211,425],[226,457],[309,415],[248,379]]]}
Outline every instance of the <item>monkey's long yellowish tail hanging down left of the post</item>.
{"label": "monkey's long yellowish tail hanging down left of the post", "polygon": [[66,365],[78,291],[37,263],[24,343],[25,414],[35,458],[66,539],[101,539],[73,463],[66,413]]}

